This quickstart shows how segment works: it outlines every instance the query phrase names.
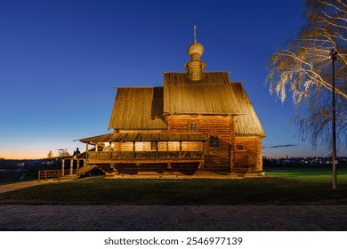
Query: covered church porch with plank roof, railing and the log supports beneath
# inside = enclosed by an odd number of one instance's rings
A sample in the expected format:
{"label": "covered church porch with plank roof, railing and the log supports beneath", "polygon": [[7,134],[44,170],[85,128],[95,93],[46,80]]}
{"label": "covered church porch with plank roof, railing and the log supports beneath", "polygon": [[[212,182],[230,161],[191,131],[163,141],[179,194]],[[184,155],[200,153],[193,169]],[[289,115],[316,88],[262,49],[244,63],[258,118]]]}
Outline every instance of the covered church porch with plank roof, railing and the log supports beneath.
{"label": "covered church porch with plank roof, railing and the log supports beneath", "polygon": [[192,173],[204,165],[207,137],[202,133],[133,132],[80,141],[86,144],[85,164],[107,174],[173,173],[186,168]]}

